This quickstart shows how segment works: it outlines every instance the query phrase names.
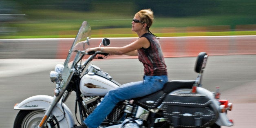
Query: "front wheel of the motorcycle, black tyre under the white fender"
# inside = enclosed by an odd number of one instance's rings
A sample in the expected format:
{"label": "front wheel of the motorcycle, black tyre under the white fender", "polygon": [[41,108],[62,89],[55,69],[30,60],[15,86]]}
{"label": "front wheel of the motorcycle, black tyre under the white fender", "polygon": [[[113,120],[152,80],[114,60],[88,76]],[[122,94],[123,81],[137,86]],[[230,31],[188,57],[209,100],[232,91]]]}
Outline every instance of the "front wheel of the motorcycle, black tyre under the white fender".
{"label": "front wheel of the motorcycle, black tyre under the white fender", "polygon": [[[37,128],[44,117],[44,110],[20,110],[13,128]],[[45,128],[60,128],[55,117],[46,122]]]}

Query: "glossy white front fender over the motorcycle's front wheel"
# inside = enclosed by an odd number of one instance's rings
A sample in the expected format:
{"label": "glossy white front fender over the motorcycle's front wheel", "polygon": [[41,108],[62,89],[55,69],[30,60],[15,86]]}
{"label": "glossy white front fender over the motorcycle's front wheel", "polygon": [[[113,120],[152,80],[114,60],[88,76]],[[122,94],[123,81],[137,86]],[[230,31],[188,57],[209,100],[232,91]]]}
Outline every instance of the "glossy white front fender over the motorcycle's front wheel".
{"label": "glossy white front fender over the motorcycle's front wheel", "polygon": [[[23,100],[19,104],[15,104],[14,110],[47,110],[52,101],[53,97],[51,96],[36,95]],[[52,110],[52,114],[57,118],[57,120],[61,120],[59,122],[60,128],[65,128],[66,126],[71,128],[75,124],[71,110],[66,106],[66,104],[62,104],[61,101],[56,104],[55,108]]]}

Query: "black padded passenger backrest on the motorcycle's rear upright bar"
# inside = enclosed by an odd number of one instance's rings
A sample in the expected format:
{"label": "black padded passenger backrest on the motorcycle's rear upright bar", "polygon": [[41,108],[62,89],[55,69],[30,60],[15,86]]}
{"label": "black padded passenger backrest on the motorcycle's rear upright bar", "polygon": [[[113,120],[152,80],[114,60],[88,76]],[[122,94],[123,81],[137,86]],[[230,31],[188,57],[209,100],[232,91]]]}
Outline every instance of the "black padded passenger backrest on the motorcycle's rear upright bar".
{"label": "black padded passenger backrest on the motorcycle's rear upright bar", "polygon": [[196,65],[195,65],[195,71],[196,73],[202,73],[203,69],[205,68],[206,62],[207,62],[207,53],[201,52],[197,56]]}

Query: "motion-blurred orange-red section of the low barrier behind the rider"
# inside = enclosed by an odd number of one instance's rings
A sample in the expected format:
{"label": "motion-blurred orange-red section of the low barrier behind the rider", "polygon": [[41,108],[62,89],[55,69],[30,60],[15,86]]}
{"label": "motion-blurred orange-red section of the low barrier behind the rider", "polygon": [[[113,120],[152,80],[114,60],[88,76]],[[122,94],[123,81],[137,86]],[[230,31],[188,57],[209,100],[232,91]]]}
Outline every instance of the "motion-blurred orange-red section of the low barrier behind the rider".
{"label": "motion-blurred orange-red section of the low barrier behind the rider", "polygon": [[[111,47],[129,44],[137,38],[109,38]],[[97,47],[102,38],[92,38],[90,47]],[[256,35],[242,36],[198,36],[161,37],[159,39],[165,57],[195,57],[204,51],[208,55],[256,54]],[[72,40],[73,42],[73,40]],[[57,59],[65,59],[72,42],[61,40],[58,44]],[[127,55],[112,55],[108,58],[136,58]]]}

